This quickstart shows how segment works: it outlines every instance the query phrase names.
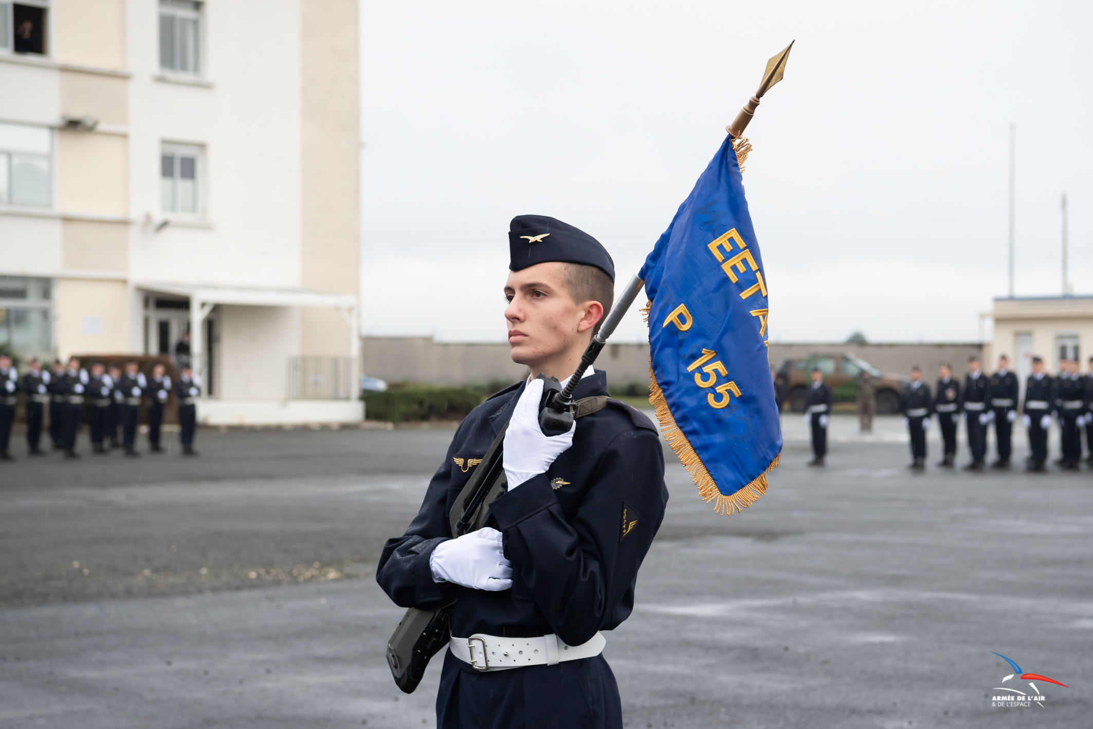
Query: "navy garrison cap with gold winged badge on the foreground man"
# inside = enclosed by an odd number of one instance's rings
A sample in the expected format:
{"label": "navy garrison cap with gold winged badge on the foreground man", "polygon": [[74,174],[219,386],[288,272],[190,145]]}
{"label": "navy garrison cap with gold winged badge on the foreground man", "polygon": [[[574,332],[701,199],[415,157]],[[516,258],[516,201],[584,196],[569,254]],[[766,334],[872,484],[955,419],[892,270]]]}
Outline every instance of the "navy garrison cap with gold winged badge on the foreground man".
{"label": "navy garrison cap with gold winged badge on the foreground man", "polygon": [[508,224],[508,270],[560,261],[595,266],[614,281],[614,261],[600,242],[546,215],[517,215]]}

